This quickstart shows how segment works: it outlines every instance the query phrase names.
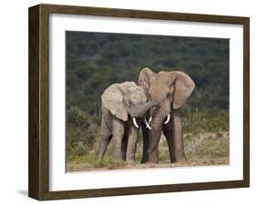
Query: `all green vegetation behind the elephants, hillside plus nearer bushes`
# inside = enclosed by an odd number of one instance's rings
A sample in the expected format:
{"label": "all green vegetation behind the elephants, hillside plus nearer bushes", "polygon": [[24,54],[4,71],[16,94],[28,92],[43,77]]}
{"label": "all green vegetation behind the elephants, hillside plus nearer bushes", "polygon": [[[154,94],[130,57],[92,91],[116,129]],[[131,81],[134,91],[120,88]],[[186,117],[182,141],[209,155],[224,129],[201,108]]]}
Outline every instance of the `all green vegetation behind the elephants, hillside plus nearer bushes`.
{"label": "all green vegetation behind the elephants, hillside plus nearer bushes", "polygon": [[186,132],[228,131],[229,39],[67,32],[67,159],[96,149],[100,95],[138,82],[143,67],[179,70],[196,83],[181,109]]}

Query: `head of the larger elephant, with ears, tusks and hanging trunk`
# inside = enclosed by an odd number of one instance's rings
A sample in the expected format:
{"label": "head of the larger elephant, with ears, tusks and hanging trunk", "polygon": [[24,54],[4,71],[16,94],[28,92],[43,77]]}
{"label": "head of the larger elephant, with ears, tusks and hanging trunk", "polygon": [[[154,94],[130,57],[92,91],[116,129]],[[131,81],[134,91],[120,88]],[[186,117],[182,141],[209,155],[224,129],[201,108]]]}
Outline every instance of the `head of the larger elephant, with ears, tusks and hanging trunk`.
{"label": "head of the larger elephant, with ears, tusks and hanging trunk", "polygon": [[195,88],[188,74],[179,71],[154,73],[144,68],[139,73],[138,85],[143,86],[150,101],[159,102],[159,107],[150,110],[152,139],[148,152],[155,151],[159,144],[163,123],[169,123],[170,112],[179,109]]}

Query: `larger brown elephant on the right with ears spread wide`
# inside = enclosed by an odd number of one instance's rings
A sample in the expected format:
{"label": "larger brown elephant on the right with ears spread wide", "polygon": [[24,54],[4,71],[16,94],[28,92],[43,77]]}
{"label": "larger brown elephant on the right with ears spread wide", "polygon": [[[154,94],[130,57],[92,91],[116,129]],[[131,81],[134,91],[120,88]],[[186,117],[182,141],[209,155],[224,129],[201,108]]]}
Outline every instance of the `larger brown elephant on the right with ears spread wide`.
{"label": "larger brown elephant on the right with ears spread wide", "polygon": [[149,68],[144,68],[139,73],[138,85],[144,87],[149,101],[159,102],[159,107],[148,111],[148,121],[142,124],[141,162],[159,162],[158,145],[161,132],[168,142],[170,161],[184,161],[179,108],[188,101],[195,83],[186,73],[179,71],[154,73]]}

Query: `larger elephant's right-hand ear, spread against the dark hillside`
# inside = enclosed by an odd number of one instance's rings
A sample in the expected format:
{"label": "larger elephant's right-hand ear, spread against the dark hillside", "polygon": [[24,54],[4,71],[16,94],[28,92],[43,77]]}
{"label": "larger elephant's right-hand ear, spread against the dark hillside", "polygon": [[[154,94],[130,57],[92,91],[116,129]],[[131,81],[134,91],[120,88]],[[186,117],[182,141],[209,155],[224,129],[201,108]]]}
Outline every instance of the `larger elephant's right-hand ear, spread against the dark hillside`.
{"label": "larger elephant's right-hand ear, spread against the dark hillside", "polygon": [[188,74],[173,72],[176,76],[173,109],[178,109],[188,101],[190,94],[195,88],[195,83]]}

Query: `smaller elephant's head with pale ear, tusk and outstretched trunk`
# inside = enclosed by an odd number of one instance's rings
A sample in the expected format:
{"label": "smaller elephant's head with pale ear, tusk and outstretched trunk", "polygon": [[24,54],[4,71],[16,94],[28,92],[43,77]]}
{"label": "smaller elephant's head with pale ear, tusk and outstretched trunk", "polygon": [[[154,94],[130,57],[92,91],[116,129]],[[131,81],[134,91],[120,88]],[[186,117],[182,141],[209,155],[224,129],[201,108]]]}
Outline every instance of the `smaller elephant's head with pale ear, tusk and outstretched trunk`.
{"label": "smaller elephant's head with pale ear, tusk and outstretched trunk", "polygon": [[118,119],[126,122],[130,115],[137,128],[136,118],[144,118],[150,108],[159,105],[158,102],[147,102],[144,88],[133,82],[110,85],[101,95],[101,100],[103,105]]}

